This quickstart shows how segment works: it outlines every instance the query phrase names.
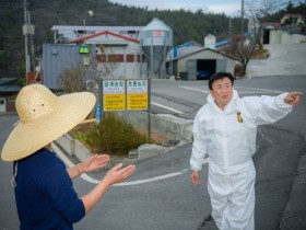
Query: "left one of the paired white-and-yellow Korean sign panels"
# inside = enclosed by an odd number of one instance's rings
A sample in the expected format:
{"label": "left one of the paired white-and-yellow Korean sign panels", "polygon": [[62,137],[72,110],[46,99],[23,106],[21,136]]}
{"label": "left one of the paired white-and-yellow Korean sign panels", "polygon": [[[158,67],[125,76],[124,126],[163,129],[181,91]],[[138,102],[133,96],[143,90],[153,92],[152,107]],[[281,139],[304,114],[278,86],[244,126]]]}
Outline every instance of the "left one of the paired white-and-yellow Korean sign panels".
{"label": "left one of the paired white-and-yellow Korean sign panels", "polygon": [[103,81],[103,111],[126,110],[126,82],[125,80]]}

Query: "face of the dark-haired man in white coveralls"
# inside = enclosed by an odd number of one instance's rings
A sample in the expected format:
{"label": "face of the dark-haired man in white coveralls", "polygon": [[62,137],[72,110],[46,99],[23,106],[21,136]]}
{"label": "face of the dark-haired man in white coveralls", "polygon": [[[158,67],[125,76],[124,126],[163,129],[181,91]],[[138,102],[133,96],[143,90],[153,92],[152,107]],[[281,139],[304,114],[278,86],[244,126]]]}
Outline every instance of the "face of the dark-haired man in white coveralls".
{"label": "face of the dark-haired man in white coveralls", "polygon": [[212,90],[210,91],[210,93],[214,97],[217,106],[221,110],[224,110],[225,105],[233,97],[232,81],[228,78],[215,80],[212,83]]}

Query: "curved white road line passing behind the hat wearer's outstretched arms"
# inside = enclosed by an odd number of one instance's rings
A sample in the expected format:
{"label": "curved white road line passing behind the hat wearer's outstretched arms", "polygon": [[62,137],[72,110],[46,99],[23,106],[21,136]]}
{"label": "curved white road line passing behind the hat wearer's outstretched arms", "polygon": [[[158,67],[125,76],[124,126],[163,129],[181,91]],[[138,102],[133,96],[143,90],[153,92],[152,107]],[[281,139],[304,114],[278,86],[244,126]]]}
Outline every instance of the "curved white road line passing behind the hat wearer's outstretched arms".
{"label": "curved white road line passing behind the hat wearer's outstretched arms", "polygon": [[[70,166],[73,166],[74,164],[66,157],[64,153],[61,152],[61,150],[52,143],[52,149],[55,150],[55,152],[59,156],[59,158],[63,161],[64,164],[67,164],[69,168]],[[209,159],[205,159],[203,164],[207,164],[209,162]],[[137,181],[131,181],[131,182],[121,182],[121,183],[118,183],[118,184],[115,184],[113,186],[131,186],[131,185],[138,185],[138,184],[145,184],[145,183],[150,183],[150,182],[155,182],[155,181],[160,181],[160,180],[165,180],[165,179],[170,179],[170,177],[174,177],[174,176],[178,176],[178,175],[181,175],[184,174],[185,172],[187,172],[189,170],[189,168],[186,168],[179,172],[174,172],[174,173],[168,173],[168,174],[165,174],[165,175],[158,175],[158,176],[154,176],[154,177],[151,177],[151,179],[143,179],[143,180],[137,180]],[[86,181],[86,182],[90,182],[92,184],[98,184],[101,181],[98,180],[95,180],[91,176],[89,176],[86,173],[83,173],[81,175],[81,177]]]}

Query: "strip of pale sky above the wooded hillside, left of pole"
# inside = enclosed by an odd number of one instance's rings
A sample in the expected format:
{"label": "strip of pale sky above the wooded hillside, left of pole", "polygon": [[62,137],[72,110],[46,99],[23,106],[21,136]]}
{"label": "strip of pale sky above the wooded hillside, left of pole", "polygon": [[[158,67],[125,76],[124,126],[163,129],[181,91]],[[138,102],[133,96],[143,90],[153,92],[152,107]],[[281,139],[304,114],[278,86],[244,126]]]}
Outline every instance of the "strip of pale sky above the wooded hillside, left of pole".
{"label": "strip of pale sky above the wooded hillside, left of pole", "polygon": [[203,12],[239,14],[242,0],[109,0],[125,5],[148,7],[149,10],[190,10]]}

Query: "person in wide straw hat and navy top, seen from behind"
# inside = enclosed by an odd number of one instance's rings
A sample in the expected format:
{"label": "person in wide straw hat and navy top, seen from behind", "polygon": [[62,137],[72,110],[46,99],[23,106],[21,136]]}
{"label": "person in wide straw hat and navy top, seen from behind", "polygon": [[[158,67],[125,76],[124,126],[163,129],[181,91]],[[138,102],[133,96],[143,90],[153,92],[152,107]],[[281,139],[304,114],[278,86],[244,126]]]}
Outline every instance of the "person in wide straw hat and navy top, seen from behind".
{"label": "person in wide straw hat and navy top, seen from behind", "polygon": [[129,177],[134,165],[117,164],[89,194],[78,197],[71,179],[106,165],[109,156],[93,156],[70,169],[48,149],[50,142],[82,122],[95,105],[89,92],[55,95],[42,84],[24,87],[15,102],[20,122],[1,157],[14,161],[20,229],[73,229],[108,188]]}

